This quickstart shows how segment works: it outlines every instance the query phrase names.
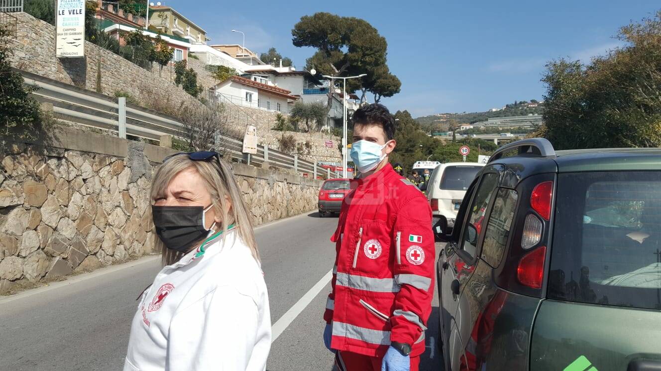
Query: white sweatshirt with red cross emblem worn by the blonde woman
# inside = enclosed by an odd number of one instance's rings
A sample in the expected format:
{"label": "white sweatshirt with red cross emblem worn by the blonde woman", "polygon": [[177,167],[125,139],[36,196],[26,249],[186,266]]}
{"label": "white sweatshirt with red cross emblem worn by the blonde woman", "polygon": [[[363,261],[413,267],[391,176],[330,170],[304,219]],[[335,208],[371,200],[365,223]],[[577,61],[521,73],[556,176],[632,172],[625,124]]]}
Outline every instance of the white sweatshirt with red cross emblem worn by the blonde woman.
{"label": "white sweatshirt with red cross emblem worn by the blonde woman", "polygon": [[230,231],[156,275],[137,307],[124,370],[263,371],[270,347],[264,274]]}

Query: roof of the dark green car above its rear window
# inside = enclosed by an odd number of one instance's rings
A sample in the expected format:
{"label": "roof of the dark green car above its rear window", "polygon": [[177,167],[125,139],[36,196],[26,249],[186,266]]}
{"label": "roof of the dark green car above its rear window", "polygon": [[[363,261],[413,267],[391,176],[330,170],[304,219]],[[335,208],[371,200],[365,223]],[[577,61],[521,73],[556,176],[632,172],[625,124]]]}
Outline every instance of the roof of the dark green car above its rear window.
{"label": "roof of the dark green car above its rear window", "polygon": [[661,149],[608,148],[556,151],[558,172],[661,170]]}

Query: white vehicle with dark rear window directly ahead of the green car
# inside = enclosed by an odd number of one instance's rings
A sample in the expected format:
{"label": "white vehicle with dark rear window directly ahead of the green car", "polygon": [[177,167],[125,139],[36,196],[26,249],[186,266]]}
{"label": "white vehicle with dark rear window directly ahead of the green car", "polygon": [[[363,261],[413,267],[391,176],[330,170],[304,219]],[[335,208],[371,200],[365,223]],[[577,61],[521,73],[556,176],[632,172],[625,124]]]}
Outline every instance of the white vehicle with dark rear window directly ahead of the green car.
{"label": "white vehicle with dark rear window directly ahead of the green car", "polygon": [[432,225],[440,219],[443,230],[454,226],[466,189],[483,166],[485,164],[477,162],[448,162],[434,169],[426,188],[427,200],[432,206]]}

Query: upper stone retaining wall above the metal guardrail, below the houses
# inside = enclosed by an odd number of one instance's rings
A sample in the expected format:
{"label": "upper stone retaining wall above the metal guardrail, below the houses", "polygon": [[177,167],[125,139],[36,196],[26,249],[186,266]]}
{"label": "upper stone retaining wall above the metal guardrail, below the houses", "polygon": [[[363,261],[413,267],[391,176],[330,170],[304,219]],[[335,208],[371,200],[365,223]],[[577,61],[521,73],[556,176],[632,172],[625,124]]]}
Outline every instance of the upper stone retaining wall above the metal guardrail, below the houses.
{"label": "upper stone retaining wall above the metal guardrail, below the houses", "polygon": [[[142,106],[145,106],[144,102],[151,102],[154,99],[158,99],[163,105],[175,108],[182,103],[199,104],[198,100],[192,98],[182,88],[175,86],[173,83],[175,74],[171,66],[163,68],[163,71],[159,73],[159,66],[155,64],[150,72],[112,51],[87,41],[85,42],[84,59],[58,59],[55,57],[54,26],[27,13],[12,14],[17,17],[18,25],[17,38],[10,42],[13,54],[9,56],[9,61],[18,69],[80,88],[100,90],[108,96],[114,96],[118,91],[128,92],[138,102],[142,102]],[[100,75],[97,74],[98,63],[100,63]],[[204,94],[206,94],[206,90],[213,86],[216,80],[210,72],[204,69],[202,61],[189,59],[188,64],[198,74],[198,81],[204,87]],[[282,132],[271,130],[276,124],[276,112],[228,104],[227,113],[231,133],[235,135],[240,133],[239,138],[241,138],[245,126],[247,123],[251,123],[257,125],[260,144],[280,148],[278,138],[282,136]],[[305,143],[308,140],[311,142],[311,152],[307,157],[302,156],[303,158],[341,162],[339,160],[341,154],[337,149],[337,141],[340,139],[337,137],[321,133],[289,134],[293,134],[299,143]],[[332,148],[325,147],[327,139],[334,141]]]}

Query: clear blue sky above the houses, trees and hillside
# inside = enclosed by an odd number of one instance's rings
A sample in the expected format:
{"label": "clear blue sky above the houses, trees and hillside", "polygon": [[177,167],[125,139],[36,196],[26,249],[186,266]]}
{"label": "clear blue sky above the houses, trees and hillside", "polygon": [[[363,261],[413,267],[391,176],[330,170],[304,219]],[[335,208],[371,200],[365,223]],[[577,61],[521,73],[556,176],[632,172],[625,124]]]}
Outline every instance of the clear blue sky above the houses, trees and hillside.
{"label": "clear blue sky above the houses, trees and hillside", "polygon": [[[193,5],[194,4],[194,5]],[[650,17],[658,0],[579,1],[184,1],[166,0],[202,26],[212,44],[270,46],[305,65],[291,30],[303,15],[327,11],[370,22],[388,42],[388,64],[402,90],[381,102],[414,117],[475,112],[514,100],[541,100],[549,59],[590,56],[618,46],[620,26]],[[370,100],[373,99],[370,97]]]}

